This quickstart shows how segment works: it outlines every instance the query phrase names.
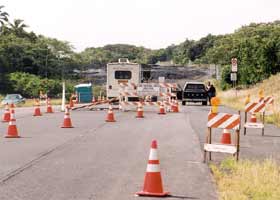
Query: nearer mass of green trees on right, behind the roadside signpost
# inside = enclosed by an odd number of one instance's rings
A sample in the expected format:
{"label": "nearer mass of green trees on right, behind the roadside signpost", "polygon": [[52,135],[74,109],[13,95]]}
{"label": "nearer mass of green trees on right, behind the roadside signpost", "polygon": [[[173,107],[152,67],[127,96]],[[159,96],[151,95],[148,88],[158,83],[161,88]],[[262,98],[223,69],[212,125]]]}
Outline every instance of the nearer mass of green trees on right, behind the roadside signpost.
{"label": "nearer mass of green trees on right, behind the roadside signpost", "polygon": [[230,60],[238,59],[238,81],[249,85],[280,72],[280,21],[250,24],[222,36],[206,53],[208,63],[221,64],[223,87],[230,76]]}

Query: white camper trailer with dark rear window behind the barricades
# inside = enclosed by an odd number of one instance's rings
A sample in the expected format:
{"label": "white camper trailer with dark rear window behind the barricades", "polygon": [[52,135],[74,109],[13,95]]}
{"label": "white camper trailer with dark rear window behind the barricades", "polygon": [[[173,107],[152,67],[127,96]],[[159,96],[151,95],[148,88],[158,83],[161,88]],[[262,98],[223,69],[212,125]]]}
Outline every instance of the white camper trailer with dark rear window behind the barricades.
{"label": "white camper trailer with dark rear window behind the barricades", "polygon": [[[140,64],[131,63],[128,59],[122,58],[120,58],[118,62],[107,64],[107,98],[111,99],[120,96],[120,84],[138,85],[140,81]],[[132,88],[132,90],[133,89],[135,88]]]}

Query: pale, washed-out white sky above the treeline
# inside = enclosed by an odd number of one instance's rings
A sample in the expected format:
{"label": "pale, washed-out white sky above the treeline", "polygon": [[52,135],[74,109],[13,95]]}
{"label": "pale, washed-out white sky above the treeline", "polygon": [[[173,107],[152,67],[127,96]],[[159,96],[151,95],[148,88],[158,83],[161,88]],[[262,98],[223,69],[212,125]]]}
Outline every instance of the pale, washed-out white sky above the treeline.
{"label": "pale, washed-out white sky above the treeline", "polygon": [[76,51],[126,43],[165,48],[280,19],[279,0],[1,0],[11,18]]}

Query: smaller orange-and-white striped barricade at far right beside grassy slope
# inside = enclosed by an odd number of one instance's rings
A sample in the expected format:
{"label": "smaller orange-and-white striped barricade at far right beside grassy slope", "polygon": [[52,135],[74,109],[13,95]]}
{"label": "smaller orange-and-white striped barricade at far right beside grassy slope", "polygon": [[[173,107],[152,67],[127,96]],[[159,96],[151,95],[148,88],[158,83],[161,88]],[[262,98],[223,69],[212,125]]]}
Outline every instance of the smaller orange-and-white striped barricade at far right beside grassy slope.
{"label": "smaller orange-and-white striped barricade at far right beside grassy slope", "polygon": [[[248,121],[248,113],[251,115],[251,119]],[[260,113],[261,122],[256,121],[256,113]],[[248,128],[262,129],[262,136],[264,135],[264,116],[265,116],[265,104],[263,102],[250,102],[245,106],[245,121],[244,121],[244,135],[246,135]]]}

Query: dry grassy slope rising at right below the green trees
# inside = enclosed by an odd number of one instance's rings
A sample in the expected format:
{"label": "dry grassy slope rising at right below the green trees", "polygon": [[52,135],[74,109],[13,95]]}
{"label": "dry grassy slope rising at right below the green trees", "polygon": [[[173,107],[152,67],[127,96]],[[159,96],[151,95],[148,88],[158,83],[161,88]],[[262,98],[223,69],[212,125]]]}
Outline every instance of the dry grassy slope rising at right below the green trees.
{"label": "dry grassy slope rising at right below the green trees", "polygon": [[280,73],[271,76],[269,79],[258,83],[249,89],[242,89],[236,91],[231,89],[225,92],[219,91],[219,97],[222,99],[222,103],[238,109],[244,110],[245,99],[248,94],[250,94],[251,102],[258,101],[258,93],[262,89],[264,91],[264,96],[273,96],[274,105],[272,106],[273,114],[266,117],[268,123],[276,124],[280,126]]}

